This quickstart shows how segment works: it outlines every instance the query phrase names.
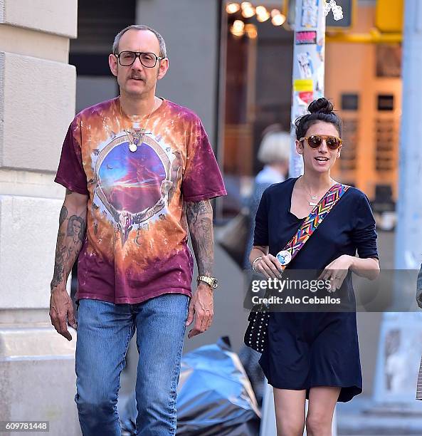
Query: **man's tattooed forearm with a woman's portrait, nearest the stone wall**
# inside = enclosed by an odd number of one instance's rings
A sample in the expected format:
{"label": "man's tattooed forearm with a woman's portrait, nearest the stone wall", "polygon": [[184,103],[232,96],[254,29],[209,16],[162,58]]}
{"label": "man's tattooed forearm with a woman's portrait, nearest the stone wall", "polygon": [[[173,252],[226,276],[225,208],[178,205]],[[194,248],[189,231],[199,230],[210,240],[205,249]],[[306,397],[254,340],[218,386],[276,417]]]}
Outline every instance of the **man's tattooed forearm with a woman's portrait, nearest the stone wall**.
{"label": "man's tattooed forearm with a woman's portrait, nearest the stone wall", "polygon": [[85,238],[86,212],[71,215],[68,219],[68,209],[63,204],[60,210],[59,228],[56,244],[56,258],[54,263],[51,291],[57,286],[65,287],[68,275],[78,257]]}

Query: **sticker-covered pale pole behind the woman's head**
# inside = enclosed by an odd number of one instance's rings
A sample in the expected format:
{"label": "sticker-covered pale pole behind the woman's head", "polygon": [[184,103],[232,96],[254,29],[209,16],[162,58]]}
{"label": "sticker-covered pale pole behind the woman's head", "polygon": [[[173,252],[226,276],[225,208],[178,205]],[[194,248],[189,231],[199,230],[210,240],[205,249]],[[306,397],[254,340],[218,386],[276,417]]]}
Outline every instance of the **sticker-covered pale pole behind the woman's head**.
{"label": "sticker-covered pale pole behind the woman's head", "polygon": [[303,174],[302,157],[295,149],[295,119],[305,115],[312,100],[324,95],[325,0],[296,0],[294,44],[290,177]]}

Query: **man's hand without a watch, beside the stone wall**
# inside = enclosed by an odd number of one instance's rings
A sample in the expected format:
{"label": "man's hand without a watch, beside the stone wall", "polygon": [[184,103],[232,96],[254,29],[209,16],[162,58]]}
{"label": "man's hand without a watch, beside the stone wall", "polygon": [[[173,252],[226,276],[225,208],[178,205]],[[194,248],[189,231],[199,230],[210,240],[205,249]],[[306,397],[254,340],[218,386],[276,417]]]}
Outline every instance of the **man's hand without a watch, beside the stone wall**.
{"label": "man's hand without a watch, beside the stone wall", "polygon": [[68,341],[72,341],[72,336],[68,331],[69,326],[76,328],[75,316],[73,313],[73,303],[66,290],[55,289],[50,297],[50,318],[51,324],[56,328],[57,333],[64,336]]}

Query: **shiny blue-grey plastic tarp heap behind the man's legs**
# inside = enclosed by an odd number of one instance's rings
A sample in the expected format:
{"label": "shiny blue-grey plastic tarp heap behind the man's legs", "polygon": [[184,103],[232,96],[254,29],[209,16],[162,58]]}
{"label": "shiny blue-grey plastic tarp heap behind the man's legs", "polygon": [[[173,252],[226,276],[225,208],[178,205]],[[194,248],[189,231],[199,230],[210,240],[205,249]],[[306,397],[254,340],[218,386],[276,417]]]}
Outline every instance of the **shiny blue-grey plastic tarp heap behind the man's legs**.
{"label": "shiny blue-grey plastic tarp heap behind the man's legs", "polygon": [[[134,398],[122,412],[122,429],[134,435]],[[260,411],[228,340],[197,348],[181,359],[177,435],[256,436]]]}

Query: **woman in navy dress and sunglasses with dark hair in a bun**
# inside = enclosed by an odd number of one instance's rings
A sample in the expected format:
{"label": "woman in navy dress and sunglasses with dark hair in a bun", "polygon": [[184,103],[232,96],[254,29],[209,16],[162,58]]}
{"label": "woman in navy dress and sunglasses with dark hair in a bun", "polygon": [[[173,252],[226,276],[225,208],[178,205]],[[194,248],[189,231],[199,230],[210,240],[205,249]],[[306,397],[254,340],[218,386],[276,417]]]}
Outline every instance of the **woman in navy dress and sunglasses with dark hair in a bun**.
{"label": "woman in navy dress and sunglasses with dark hair in a bun", "polygon": [[[265,190],[255,217],[249,260],[267,278],[279,277],[281,265],[275,255],[337,184],[330,170],[342,150],[341,120],[325,98],[313,101],[308,110],[310,114],[295,123],[304,174]],[[288,269],[322,271],[320,279],[329,280],[332,291],[346,287],[352,292],[349,271],[376,278],[375,222],[365,194],[350,187]],[[274,388],[278,436],[302,435],[305,424],[308,436],[331,435],[337,401],[349,401],[362,392],[356,313],[270,313],[260,365]]]}

